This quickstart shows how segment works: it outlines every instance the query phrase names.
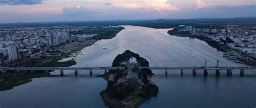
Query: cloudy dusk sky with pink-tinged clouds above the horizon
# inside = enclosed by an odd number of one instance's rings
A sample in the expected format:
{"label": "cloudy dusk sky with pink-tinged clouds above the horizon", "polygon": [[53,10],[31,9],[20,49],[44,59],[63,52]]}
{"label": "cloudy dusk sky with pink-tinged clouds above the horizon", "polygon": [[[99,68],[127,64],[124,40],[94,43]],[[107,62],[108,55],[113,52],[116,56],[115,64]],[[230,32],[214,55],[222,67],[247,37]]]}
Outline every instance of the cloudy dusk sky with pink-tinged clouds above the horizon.
{"label": "cloudy dusk sky with pink-tinged clouds above the horizon", "polygon": [[256,17],[256,0],[0,0],[0,23]]}

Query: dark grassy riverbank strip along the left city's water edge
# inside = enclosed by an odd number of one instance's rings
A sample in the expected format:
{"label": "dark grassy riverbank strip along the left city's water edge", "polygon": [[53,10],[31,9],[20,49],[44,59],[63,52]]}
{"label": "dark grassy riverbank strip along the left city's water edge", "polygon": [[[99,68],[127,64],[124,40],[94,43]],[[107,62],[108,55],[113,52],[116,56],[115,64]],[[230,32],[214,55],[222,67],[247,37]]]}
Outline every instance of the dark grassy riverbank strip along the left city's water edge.
{"label": "dark grassy riverbank strip along the left city's water edge", "polygon": [[[125,28],[120,26],[118,29],[120,31],[122,31]],[[43,59],[32,58],[32,59],[28,59],[28,60],[25,60],[25,61],[21,62],[21,64],[17,64],[17,65],[14,65],[14,66],[22,66],[22,67],[23,66],[69,67],[69,66],[72,66],[72,65],[76,65],[76,61],[73,60],[73,59],[67,60],[65,62],[59,62],[59,60],[70,57],[72,55],[71,52],[77,52],[77,51],[80,51],[84,48],[92,46],[93,44],[98,42],[98,40],[112,39],[112,38],[116,37],[117,33],[119,33],[120,31],[116,32],[115,34],[111,34],[108,37],[104,37],[104,38],[100,38],[100,39],[91,38],[91,39],[87,40],[84,44],[76,46],[70,52],[66,52],[66,53],[64,53],[64,55],[52,58],[48,62],[45,62],[45,63],[42,63],[42,64],[37,64],[37,63],[38,63],[38,61],[42,61]],[[89,42],[89,43],[87,43],[87,42]],[[24,75],[26,75],[26,76],[24,76]],[[14,71],[7,71],[7,72],[0,71],[0,86],[1,86],[0,92],[1,91],[6,91],[6,90],[11,90],[15,86],[19,86],[19,85],[29,83],[29,82],[32,81],[33,78],[42,78],[42,77],[45,77],[47,75],[50,75],[49,71],[48,72],[47,71],[35,71],[35,72],[22,71],[22,73],[17,73],[17,72],[14,72]]]}

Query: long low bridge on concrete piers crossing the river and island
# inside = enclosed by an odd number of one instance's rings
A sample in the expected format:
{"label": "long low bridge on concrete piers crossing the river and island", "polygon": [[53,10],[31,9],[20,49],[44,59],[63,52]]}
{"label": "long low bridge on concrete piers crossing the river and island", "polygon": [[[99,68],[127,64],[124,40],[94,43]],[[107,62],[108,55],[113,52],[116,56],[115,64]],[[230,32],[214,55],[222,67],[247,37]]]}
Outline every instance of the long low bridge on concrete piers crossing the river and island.
{"label": "long low bridge on concrete piers crossing the river and island", "polygon": [[[128,67],[133,69],[134,67]],[[64,75],[64,70],[74,70],[75,74],[77,75],[78,70],[90,70],[90,75],[92,74],[92,70],[124,70],[125,67],[95,67],[95,68],[73,68],[73,67],[24,67],[24,68],[11,68],[11,67],[2,67],[0,70],[15,70],[15,71],[36,71],[36,70],[45,70],[45,71],[52,71],[52,70],[59,70],[60,75]],[[227,75],[232,75],[232,70],[240,70],[240,75],[244,75],[245,70],[256,70],[256,67],[138,67],[139,70],[141,69],[150,69],[150,70],[165,70],[165,74],[167,75],[167,70],[180,70],[181,75],[183,75],[184,70],[192,70],[193,75],[196,75],[196,70],[204,70],[204,74],[207,75],[207,70],[215,70],[216,75],[220,75],[220,70],[226,70]]]}

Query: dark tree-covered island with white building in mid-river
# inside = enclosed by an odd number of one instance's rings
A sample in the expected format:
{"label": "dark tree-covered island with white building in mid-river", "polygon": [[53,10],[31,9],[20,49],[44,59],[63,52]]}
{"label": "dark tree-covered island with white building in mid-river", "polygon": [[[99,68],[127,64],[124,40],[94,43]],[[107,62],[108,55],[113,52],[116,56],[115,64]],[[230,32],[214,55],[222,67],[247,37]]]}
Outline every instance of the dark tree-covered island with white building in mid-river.
{"label": "dark tree-covered island with white building in mid-river", "polygon": [[157,96],[158,86],[152,82],[149,62],[137,53],[126,50],[114,58],[112,67],[123,66],[124,70],[109,70],[103,78],[107,81],[106,90],[100,92],[108,107],[139,107],[146,100]]}

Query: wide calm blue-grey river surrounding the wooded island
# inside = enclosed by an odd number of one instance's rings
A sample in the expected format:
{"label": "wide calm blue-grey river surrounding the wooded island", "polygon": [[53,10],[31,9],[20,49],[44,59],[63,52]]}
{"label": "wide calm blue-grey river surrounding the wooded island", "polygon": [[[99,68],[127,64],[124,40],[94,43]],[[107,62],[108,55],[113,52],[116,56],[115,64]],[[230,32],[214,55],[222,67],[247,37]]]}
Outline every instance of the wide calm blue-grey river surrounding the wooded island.
{"label": "wide calm blue-grey river surrounding the wooded island", "polygon": [[[215,66],[217,59],[220,66],[246,66],[223,58],[217,51],[199,39],[170,36],[171,29],[152,29],[125,25],[116,37],[100,40],[84,48],[75,57],[77,64],[72,67],[111,66],[114,57],[125,50],[139,53],[150,62],[150,66]],[[103,49],[106,48],[107,50]],[[70,58],[66,58],[70,59]],[[64,59],[64,60],[66,60]],[[12,90],[0,92],[0,107],[106,107],[99,92],[105,89],[104,71],[93,70],[59,71],[50,76],[34,78],[32,82],[16,86]],[[192,70],[154,71],[153,82],[159,86],[157,97],[147,100],[140,107],[255,107],[256,106],[256,72],[245,71],[240,77],[238,71],[226,76],[221,71],[219,77],[214,71],[204,76]]]}

